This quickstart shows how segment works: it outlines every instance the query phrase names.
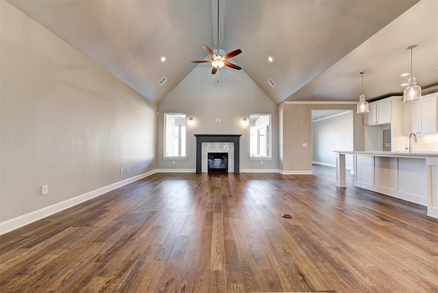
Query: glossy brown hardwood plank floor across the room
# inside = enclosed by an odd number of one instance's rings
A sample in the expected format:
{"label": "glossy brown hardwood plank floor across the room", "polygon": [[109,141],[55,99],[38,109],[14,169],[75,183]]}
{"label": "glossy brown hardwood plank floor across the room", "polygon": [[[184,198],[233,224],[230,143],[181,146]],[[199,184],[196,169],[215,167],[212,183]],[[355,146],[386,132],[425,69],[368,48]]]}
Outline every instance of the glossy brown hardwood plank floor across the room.
{"label": "glossy brown hardwood plank floor across the room", "polygon": [[0,292],[438,292],[426,207],[313,170],[136,181],[0,236]]}

